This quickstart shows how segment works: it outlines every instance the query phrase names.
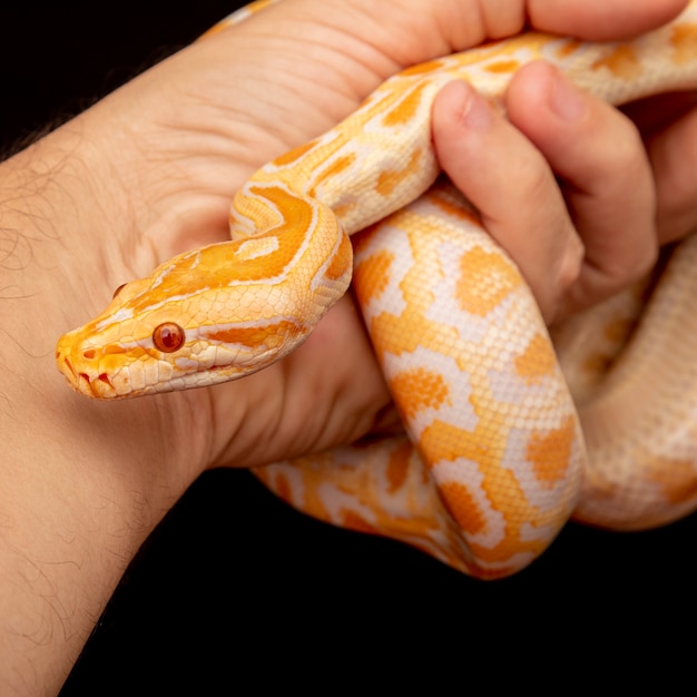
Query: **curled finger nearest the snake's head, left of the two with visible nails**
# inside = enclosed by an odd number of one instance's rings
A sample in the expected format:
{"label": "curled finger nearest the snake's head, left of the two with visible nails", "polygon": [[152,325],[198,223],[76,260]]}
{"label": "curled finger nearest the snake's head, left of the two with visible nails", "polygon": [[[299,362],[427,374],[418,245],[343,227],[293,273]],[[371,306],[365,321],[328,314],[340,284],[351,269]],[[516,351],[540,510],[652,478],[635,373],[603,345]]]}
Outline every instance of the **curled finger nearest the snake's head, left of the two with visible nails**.
{"label": "curled finger nearest the snake's head, left of the two with visible nails", "polygon": [[463,82],[439,95],[433,134],[441,166],[479,208],[550,318],[559,286],[578,275],[582,248],[544,158]]}

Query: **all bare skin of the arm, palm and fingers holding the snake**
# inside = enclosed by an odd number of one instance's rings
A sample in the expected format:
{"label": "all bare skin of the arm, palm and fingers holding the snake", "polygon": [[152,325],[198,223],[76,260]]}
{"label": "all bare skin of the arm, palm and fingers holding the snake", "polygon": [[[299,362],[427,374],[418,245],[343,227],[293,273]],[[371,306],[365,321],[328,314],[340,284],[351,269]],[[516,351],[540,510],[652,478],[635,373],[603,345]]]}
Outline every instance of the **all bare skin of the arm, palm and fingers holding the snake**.
{"label": "all bare skin of the arm, palm and fingers holding the snake", "polygon": [[[516,33],[526,17],[602,39],[657,26],[683,6],[287,0],[165,61],[0,166],[0,239],[12,249],[0,267],[2,694],[60,688],[124,569],[203,471],[394,425],[350,298],[262,373],[136,401],[73,394],[53,365],[56,338],[125,281],[226,238],[229,199],[259,165],[334,126],[399,69]],[[559,79],[540,66],[517,78],[513,126],[462,86],[434,107],[443,166],[550,321],[631,282],[660,242],[697,222],[697,117],[670,111],[647,156],[628,119]]]}

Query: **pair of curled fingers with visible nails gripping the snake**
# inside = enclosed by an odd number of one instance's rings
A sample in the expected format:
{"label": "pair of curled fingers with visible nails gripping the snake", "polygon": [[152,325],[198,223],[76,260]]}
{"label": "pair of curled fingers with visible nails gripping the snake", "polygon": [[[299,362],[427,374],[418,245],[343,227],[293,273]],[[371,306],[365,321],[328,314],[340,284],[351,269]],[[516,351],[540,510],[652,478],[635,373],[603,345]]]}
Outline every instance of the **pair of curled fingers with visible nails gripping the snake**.
{"label": "pair of curled fingers with visible nails gripping the snake", "polygon": [[652,179],[634,125],[546,63],[516,77],[507,108],[511,122],[464,84],[448,86],[435,147],[554,322],[650,267]]}

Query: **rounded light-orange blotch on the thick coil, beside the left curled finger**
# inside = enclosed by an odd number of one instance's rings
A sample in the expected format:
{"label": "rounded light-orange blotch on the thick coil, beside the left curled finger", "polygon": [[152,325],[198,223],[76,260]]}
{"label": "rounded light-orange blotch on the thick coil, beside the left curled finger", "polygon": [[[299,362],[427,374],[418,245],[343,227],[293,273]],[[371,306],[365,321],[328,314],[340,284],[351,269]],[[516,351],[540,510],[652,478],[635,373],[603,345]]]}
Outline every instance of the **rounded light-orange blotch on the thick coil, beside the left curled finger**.
{"label": "rounded light-orange blotch on the thick coil, beside the left curled finger", "polygon": [[505,258],[481,247],[465,252],[460,258],[457,300],[472,315],[485,317],[521,284],[516,267]]}

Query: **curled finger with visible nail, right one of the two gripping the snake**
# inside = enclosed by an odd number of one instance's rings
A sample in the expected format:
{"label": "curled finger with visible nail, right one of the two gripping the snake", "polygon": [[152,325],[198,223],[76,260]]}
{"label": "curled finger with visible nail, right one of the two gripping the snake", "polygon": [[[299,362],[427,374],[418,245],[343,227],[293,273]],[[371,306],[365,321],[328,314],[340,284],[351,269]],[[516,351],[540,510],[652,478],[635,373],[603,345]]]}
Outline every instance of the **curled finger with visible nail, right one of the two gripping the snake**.
{"label": "curled finger with visible nail, right one of the two gripping the snake", "polygon": [[641,277],[658,253],[656,196],[634,124],[541,62],[511,85],[507,106],[512,122],[561,178],[583,244],[571,304],[598,302]]}

